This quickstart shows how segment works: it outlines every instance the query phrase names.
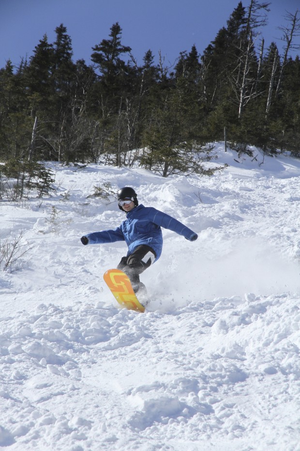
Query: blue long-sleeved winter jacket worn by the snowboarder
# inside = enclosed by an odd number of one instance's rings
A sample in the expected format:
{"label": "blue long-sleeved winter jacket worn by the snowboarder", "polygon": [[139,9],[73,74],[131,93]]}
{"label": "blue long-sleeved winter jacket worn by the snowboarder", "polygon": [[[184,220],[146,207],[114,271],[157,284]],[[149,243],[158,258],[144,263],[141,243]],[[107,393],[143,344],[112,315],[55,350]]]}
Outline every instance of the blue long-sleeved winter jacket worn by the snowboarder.
{"label": "blue long-sleeved winter jacket worn by the snowboarder", "polygon": [[102,244],[125,241],[128,246],[127,256],[141,244],[147,244],[155,252],[157,260],[163,249],[163,234],[161,227],[182,235],[187,240],[197,237],[193,230],[181,224],[177,219],[152,207],[138,205],[126,213],[126,219],[120,227],[114,230],[103,230],[86,235],[88,244]]}

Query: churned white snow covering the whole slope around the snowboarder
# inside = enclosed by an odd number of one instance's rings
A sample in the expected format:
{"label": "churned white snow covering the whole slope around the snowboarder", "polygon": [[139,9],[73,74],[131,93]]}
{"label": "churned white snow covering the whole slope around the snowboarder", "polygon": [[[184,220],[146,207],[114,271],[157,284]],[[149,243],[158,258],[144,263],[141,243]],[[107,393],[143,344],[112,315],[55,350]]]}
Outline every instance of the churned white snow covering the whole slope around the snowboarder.
{"label": "churned white snow covering the whole slope around the snowboarder", "polygon": [[[51,196],[1,202],[28,249],[0,272],[1,449],[300,450],[300,161],[254,150],[216,144],[210,178],[51,163]],[[146,313],[103,281],[125,244],[80,242],[124,219],[107,182],[199,234],[164,230]]]}

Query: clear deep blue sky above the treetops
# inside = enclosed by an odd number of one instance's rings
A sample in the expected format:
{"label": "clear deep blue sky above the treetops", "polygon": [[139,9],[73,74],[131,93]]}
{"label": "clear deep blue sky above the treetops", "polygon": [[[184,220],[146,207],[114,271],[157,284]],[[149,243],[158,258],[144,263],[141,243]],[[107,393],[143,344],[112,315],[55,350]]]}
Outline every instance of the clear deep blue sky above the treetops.
{"label": "clear deep blue sky above the treetops", "polygon": [[[248,6],[250,0],[242,0]],[[261,0],[262,2],[263,0]],[[30,57],[46,33],[55,40],[61,23],[72,39],[74,61],[90,64],[92,47],[107,39],[110,27],[119,22],[121,42],[132,48],[138,64],[147,50],[155,57],[159,51],[165,64],[174,64],[181,51],[195,44],[198,53],[226,26],[226,20],[239,0],[0,0],[0,67],[11,59],[19,64]],[[279,40],[286,12],[300,9],[300,0],[273,0],[269,24],[262,29],[266,45]],[[298,42],[297,42],[298,41]],[[297,38],[300,45],[300,37]],[[300,51],[298,52],[300,54]],[[293,57],[296,53],[292,54]]]}

